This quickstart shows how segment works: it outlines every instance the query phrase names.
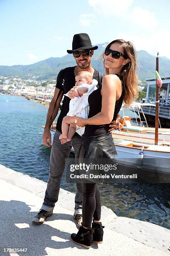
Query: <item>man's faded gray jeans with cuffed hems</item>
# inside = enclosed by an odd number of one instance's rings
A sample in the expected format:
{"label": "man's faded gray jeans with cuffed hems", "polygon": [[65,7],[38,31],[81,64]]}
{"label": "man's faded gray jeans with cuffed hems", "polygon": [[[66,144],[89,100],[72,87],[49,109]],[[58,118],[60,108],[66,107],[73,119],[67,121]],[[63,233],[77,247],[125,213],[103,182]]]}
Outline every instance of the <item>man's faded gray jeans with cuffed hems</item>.
{"label": "man's faded gray jeans with cuffed hems", "polygon": [[[60,132],[56,130],[53,137],[53,145],[50,155],[49,176],[47,182],[47,189],[42,205],[42,209],[46,211],[53,210],[55,203],[58,201],[58,194],[60,190],[61,179],[69,157],[71,147],[73,146],[75,156],[77,158],[79,148],[81,145],[81,136],[74,135],[71,141],[61,144],[59,141]],[[76,196],[75,196],[75,214],[82,214],[82,184],[80,180],[76,181]]]}

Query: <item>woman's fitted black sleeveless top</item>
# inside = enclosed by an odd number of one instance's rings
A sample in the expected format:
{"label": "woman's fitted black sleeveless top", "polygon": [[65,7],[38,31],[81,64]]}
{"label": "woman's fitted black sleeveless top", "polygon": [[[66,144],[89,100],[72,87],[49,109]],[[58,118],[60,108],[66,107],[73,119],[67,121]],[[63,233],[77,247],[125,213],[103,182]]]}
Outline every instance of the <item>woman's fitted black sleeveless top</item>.
{"label": "woman's fitted black sleeveless top", "polygon": [[[119,79],[122,82],[121,77],[116,74]],[[101,88],[102,85],[95,91],[93,91],[88,98],[88,102],[89,102],[89,115],[88,118],[93,117],[94,115],[98,114],[101,112],[101,100],[102,100],[102,96],[101,96]],[[120,108],[122,106],[122,102],[123,102],[123,97],[124,97],[124,86],[123,86],[123,82],[122,82],[122,94],[120,96],[120,98],[118,100],[116,100],[115,102],[115,108],[114,108],[114,116],[112,121],[116,120],[116,117],[120,111]],[[85,126],[85,131],[84,131],[84,136],[98,136],[104,133],[108,133],[108,130],[110,129],[109,124],[104,124],[104,125],[86,125]]]}

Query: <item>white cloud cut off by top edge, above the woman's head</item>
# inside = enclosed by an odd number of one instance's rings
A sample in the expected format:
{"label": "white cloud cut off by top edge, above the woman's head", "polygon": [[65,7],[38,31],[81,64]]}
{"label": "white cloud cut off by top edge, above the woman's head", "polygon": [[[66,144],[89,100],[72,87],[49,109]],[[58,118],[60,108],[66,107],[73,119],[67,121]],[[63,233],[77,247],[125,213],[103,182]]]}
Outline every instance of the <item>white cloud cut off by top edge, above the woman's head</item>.
{"label": "white cloud cut off by top edge, above the woman's head", "polygon": [[122,16],[133,0],[89,0],[89,5],[102,15]]}

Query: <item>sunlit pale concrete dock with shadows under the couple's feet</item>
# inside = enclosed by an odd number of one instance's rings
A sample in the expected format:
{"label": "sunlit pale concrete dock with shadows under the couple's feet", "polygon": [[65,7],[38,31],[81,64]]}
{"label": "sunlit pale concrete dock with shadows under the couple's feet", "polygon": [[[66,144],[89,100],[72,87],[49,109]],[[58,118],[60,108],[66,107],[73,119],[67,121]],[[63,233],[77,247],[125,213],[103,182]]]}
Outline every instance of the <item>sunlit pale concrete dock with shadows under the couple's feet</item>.
{"label": "sunlit pale concrete dock with shadows under the couple's feet", "polygon": [[[168,256],[170,230],[140,220],[118,217],[102,207],[104,242],[86,249],[70,240],[77,233],[74,194],[60,189],[53,215],[42,225],[33,217],[41,208],[46,182],[0,165],[0,256]],[[4,248],[27,248],[4,252]]]}

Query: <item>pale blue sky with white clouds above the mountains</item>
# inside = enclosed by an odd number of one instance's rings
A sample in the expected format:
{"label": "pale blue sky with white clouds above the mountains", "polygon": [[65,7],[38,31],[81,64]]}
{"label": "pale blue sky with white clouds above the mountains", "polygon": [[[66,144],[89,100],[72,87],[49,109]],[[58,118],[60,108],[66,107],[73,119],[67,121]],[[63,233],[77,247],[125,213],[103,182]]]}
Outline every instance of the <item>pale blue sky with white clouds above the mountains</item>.
{"label": "pale blue sky with white clouds above the mountains", "polygon": [[0,65],[61,57],[76,33],[170,58],[170,0],[0,0]]}

